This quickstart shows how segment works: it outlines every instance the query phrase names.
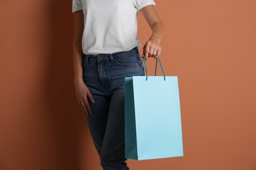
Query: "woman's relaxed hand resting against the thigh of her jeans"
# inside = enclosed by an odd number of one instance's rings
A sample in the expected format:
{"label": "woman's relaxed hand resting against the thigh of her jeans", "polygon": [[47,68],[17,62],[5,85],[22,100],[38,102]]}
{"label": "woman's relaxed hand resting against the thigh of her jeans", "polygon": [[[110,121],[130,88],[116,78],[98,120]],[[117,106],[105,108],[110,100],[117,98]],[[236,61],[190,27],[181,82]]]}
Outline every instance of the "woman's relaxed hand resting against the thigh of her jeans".
{"label": "woman's relaxed hand resting against the thigh of her jeans", "polygon": [[86,116],[91,115],[92,111],[88,99],[91,101],[91,103],[95,103],[93,95],[91,95],[91,92],[84,84],[84,82],[74,82],[74,84],[76,98],[79,103],[80,109],[85,113]]}

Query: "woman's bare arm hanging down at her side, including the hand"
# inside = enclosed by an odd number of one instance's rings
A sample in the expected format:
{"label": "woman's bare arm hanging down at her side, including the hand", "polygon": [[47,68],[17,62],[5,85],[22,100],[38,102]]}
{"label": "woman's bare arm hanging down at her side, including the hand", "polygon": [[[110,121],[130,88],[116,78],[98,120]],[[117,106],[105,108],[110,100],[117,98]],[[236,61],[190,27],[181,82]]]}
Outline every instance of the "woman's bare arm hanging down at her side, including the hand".
{"label": "woman's bare arm hanging down at her side, including the hand", "polygon": [[73,67],[74,67],[74,85],[76,98],[79,106],[87,116],[91,114],[88,97],[94,103],[91,92],[83,82],[83,68],[82,68],[82,37],[83,37],[83,10],[75,12],[75,33],[73,42]]}

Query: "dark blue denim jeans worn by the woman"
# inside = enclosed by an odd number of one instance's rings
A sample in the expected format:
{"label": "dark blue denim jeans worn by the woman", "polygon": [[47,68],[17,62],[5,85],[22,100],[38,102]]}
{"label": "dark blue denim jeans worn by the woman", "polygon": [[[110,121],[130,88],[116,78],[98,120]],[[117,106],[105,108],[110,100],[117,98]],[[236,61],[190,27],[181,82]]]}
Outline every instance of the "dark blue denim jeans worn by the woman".
{"label": "dark blue denim jeans worn by the woman", "polygon": [[129,169],[125,161],[125,76],[144,75],[137,47],[128,52],[83,56],[83,82],[95,99],[87,117],[104,170]]}

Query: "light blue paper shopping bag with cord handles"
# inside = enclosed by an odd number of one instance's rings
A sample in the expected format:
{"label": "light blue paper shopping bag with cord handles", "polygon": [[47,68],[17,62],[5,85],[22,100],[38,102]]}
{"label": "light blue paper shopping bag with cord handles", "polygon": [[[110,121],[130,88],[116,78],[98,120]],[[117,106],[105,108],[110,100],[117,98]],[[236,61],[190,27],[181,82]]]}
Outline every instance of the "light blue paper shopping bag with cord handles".
{"label": "light blue paper shopping bag with cord handles", "polygon": [[148,76],[146,68],[146,76],[125,77],[125,158],[178,156],[183,146],[177,76]]}

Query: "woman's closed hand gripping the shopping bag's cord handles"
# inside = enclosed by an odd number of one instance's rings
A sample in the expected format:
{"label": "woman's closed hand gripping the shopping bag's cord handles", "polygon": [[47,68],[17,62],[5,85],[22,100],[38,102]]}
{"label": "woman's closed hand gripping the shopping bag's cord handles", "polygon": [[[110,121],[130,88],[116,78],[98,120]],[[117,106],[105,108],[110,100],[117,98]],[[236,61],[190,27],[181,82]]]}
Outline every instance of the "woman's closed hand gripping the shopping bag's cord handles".
{"label": "woman's closed hand gripping the shopping bag's cord handles", "polygon": [[150,38],[143,47],[143,54],[146,59],[159,58],[161,54],[160,40],[157,38]]}

